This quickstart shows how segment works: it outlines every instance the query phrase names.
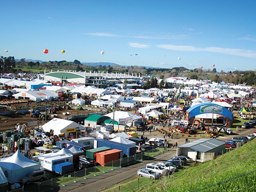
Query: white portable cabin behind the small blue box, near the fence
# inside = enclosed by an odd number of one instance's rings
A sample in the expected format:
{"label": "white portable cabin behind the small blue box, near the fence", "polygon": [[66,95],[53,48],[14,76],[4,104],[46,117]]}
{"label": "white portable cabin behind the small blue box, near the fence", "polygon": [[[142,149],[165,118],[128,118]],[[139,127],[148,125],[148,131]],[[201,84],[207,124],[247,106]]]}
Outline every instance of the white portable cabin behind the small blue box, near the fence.
{"label": "white portable cabin behind the small blue box, near the fence", "polygon": [[43,168],[50,171],[54,172],[55,171],[55,165],[64,163],[64,162],[73,162],[73,155],[71,154],[61,154],[58,156],[52,156],[52,157],[46,157],[44,158],[44,166]]}

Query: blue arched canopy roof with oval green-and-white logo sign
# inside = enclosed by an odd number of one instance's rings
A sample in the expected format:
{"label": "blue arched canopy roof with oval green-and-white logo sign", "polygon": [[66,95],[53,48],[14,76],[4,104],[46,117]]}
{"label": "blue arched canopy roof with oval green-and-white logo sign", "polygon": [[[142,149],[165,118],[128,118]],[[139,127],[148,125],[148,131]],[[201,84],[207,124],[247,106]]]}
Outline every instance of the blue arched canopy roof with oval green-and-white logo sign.
{"label": "blue arched canopy roof with oval green-and-white logo sign", "polygon": [[215,113],[219,114],[225,117],[228,117],[229,119],[233,119],[233,113],[229,111],[227,108],[224,108],[218,104],[213,103],[201,103],[194,105],[192,108],[189,108],[187,110],[189,113],[189,118],[192,118],[193,116],[200,115],[202,113]]}

